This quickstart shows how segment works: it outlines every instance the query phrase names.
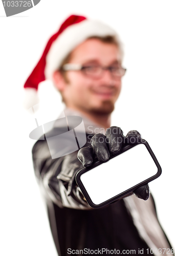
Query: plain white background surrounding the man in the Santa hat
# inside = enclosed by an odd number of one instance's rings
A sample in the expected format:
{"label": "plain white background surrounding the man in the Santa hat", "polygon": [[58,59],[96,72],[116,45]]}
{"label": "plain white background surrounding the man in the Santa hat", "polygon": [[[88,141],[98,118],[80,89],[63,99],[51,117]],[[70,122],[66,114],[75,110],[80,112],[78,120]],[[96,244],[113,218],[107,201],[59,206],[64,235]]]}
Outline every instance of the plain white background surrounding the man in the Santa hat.
{"label": "plain white background surrounding the man in the Santa hat", "polygon": [[[102,20],[123,41],[127,73],[112,124],[124,135],[138,130],[160,162],[162,175],[150,188],[159,220],[175,246],[174,10],[175,2],[168,0],[41,0],[7,18],[0,3],[1,255],[57,255],[32,166],[29,133],[36,123],[22,102],[25,80],[49,37],[70,14]],[[42,118],[56,118],[62,104],[51,83],[40,85],[39,97]]]}

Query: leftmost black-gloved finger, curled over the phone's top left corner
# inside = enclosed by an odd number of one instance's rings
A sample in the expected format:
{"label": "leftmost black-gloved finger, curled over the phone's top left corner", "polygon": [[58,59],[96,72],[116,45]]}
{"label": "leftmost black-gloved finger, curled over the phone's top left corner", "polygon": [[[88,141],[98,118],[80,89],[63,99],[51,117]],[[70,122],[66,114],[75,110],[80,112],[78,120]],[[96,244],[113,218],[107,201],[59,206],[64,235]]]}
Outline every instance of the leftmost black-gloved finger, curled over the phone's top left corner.
{"label": "leftmost black-gloved finger, curled over the phone's top left corner", "polygon": [[84,167],[88,167],[93,162],[93,148],[92,146],[86,146],[80,148],[77,154],[78,159]]}

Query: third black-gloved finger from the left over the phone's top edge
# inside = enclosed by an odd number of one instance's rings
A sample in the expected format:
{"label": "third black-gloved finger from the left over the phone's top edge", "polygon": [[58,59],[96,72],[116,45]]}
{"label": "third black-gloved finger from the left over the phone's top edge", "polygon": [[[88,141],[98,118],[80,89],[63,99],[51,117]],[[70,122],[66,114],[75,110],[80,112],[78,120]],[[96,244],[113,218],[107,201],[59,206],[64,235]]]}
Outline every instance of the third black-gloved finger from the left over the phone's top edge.
{"label": "third black-gloved finger from the left over the phone's top edge", "polygon": [[106,130],[108,149],[112,154],[119,152],[122,148],[124,136],[120,127],[111,126]]}

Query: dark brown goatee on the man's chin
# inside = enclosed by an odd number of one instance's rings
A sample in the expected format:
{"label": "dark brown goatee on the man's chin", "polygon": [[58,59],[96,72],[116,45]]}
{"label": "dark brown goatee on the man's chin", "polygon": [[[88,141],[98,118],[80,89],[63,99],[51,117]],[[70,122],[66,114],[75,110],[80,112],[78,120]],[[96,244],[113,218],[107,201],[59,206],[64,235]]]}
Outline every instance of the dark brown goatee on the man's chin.
{"label": "dark brown goatee on the man's chin", "polygon": [[96,113],[98,115],[107,115],[111,114],[114,111],[114,103],[110,100],[105,100],[101,102],[100,106],[94,106],[91,109],[92,113]]}

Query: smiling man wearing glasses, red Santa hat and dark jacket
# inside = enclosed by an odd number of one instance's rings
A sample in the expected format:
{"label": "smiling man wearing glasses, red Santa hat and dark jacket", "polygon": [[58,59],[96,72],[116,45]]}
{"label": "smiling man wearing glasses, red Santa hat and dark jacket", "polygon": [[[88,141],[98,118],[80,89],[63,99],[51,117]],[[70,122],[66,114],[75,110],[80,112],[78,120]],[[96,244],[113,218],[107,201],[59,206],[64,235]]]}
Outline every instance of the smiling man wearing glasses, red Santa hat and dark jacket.
{"label": "smiling man wearing glasses, red Santa hat and dark jacket", "polygon": [[[25,84],[25,88],[36,90],[45,76],[52,78],[67,106],[65,116],[81,116],[85,125],[87,142],[79,152],[68,154],[70,148],[65,151],[64,143],[69,144],[69,138],[65,122],[61,129],[58,127],[59,119],[46,134],[46,139],[51,138],[55,143],[55,136],[62,134],[58,142],[62,148],[60,157],[53,157],[55,148],[51,148],[47,140],[38,140],[32,150],[35,174],[47,203],[59,256],[83,253],[150,255],[152,251],[166,255],[170,251],[154,201],[149,197],[148,185],[134,191],[137,197],[128,195],[93,209],[75,182],[75,175],[83,166],[90,166],[96,157],[105,162],[123,146],[119,140],[113,140],[124,138],[122,130],[116,126],[108,128],[124,74],[122,49],[116,32],[99,22],[73,15],[49,40]],[[106,131],[106,135],[97,132],[101,130]],[[108,143],[105,140],[100,143],[99,138],[105,136]],[[127,143],[132,137],[138,138],[140,134],[137,131],[128,133]],[[149,199],[144,201],[138,197]],[[162,248],[166,248],[165,251]]]}

